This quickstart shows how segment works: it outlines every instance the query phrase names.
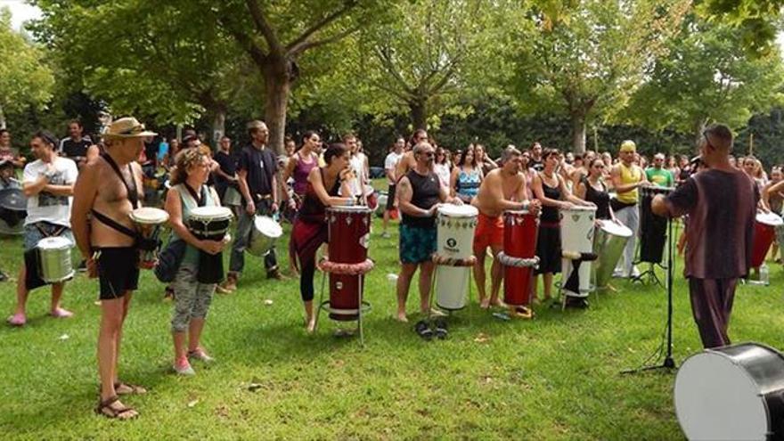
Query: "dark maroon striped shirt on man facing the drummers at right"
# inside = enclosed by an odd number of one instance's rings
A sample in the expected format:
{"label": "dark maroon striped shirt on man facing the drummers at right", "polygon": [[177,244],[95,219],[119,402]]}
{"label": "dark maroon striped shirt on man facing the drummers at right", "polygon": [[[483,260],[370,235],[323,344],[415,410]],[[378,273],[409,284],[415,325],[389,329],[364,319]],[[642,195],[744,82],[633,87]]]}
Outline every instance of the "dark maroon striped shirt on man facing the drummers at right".
{"label": "dark maroon striped shirt on man facing the drummers at right", "polygon": [[745,277],[754,246],[759,190],[742,171],[706,170],[667,196],[674,216],[689,215],[686,277]]}

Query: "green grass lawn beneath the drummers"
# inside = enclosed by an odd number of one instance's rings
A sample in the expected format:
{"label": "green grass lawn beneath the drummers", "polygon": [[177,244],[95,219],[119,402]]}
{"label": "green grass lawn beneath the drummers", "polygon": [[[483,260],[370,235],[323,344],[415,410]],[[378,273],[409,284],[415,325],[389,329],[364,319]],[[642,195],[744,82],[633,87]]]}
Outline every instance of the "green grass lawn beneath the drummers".
{"label": "green grass lawn beneath the drummers", "polygon": [[[170,372],[172,306],[144,272],[125,327],[121,378],[150,388],[131,397],[141,417],[96,416],[97,283],[78,275],[64,306],[76,316],[45,316],[49,294],[35,291],[29,325],[0,326],[0,433],[4,439],[682,439],[674,414],[674,375],[621,375],[659,345],[664,290],[617,282],[587,311],[539,308],[534,321],[502,322],[471,305],[454,315],[449,339],[425,342],[392,320],[396,235],[373,234],[375,270],[366,297],[366,347],[336,339],[326,319],[306,335],[298,282],[267,282],[249,257],[241,289],[216,295],[204,344],[217,359],[198,374]],[[21,243],[3,241],[2,266],[16,271]],[[285,265],[285,264],[284,264]],[[680,268],[678,274],[680,274]],[[319,274],[317,274],[319,277]],[[772,286],[741,286],[732,317],[735,341],[784,347],[779,331],[782,275]],[[409,311],[417,307],[414,289]],[[10,313],[12,283],[0,284]],[[272,299],[265,306],[265,299]],[[677,363],[701,346],[682,277],[675,284]],[[68,339],[61,339],[67,335]],[[260,388],[250,391],[250,383]]]}

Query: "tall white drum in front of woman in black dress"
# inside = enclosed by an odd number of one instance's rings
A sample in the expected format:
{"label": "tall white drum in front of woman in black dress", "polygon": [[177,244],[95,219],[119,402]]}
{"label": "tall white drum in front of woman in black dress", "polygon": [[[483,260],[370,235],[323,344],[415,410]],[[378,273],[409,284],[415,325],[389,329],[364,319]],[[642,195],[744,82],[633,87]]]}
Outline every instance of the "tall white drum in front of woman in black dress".
{"label": "tall white drum in front of woman in black dress", "polygon": [[[593,252],[593,221],[596,219],[596,207],[575,206],[560,210],[560,243],[561,250],[565,253],[592,253]],[[563,259],[561,279],[566,283],[569,274],[572,274],[572,261]],[[583,262],[580,265],[580,292],[564,290],[567,296],[588,297],[591,292],[591,267],[592,262]]]}

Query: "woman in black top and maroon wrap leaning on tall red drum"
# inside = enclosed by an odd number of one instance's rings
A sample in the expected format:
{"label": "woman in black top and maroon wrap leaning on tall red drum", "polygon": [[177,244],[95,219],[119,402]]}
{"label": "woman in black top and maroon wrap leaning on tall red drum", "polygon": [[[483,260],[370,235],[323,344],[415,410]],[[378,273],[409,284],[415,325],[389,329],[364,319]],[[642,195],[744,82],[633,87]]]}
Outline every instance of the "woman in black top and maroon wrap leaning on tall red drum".
{"label": "woman in black top and maroon wrap leaning on tall red drum", "polygon": [[345,144],[331,144],[324,151],[325,167],[314,167],[307,176],[307,186],[303,194],[297,220],[291,230],[290,250],[296,254],[292,260],[298,261],[300,269],[299,294],[305,304],[306,329],[313,332],[315,314],[313,311],[315,274],[315,254],[327,242],[328,226],[326,208],[353,205],[354,198],[341,198],[339,194],[351,194],[348,184],[349,156]]}

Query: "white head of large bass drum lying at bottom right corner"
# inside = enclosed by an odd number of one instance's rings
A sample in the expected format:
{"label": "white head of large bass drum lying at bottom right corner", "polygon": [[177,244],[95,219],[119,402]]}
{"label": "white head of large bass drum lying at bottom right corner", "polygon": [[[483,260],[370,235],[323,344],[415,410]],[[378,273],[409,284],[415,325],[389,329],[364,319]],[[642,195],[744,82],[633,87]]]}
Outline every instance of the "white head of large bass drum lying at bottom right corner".
{"label": "white head of large bass drum lying at bottom right corner", "polygon": [[715,352],[691,356],[675,377],[675,413],[689,439],[766,439],[760,388],[742,366]]}

